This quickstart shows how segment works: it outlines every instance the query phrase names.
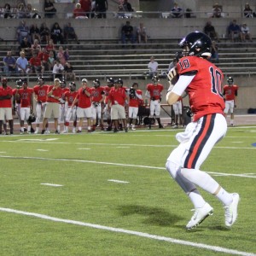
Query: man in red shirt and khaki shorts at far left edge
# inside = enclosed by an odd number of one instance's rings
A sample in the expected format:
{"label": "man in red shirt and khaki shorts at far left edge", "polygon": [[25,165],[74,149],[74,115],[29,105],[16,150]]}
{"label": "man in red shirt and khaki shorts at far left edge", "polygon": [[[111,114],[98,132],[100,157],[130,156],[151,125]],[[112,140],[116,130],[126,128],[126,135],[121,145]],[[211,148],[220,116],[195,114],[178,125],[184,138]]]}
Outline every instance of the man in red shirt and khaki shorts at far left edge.
{"label": "man in red shirt and khaki shorts at far left edge", "polygon": [[2,79],[3,87],[0,87],[0,134],[5,120],[9,121],[10,134],[14,133],[14,120],[12,114],[13,90],[7,85],[7,79]]}

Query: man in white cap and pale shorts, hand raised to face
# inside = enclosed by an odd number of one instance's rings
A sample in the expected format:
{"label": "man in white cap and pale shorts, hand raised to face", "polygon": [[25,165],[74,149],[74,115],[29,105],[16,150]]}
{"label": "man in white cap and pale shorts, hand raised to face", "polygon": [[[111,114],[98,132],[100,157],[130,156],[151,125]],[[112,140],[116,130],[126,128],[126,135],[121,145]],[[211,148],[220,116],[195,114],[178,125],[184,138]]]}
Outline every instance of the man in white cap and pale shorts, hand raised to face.
{"label": "man in white cap and pale shorts, hand raised to face", "polygon": [[87,119],[87,131],[91,131],[91,91],[92,88],[88,86],[88,80],[87,79],[82,79],[82,87],[78,91],[78,95],[76,96],[72,108],[76,104],[78,104],[77,108],[77,116],[79,119],[79,130],[77,131],[80,133],[82,131],[82,125],[83,125],[83,120],[84,118]]}

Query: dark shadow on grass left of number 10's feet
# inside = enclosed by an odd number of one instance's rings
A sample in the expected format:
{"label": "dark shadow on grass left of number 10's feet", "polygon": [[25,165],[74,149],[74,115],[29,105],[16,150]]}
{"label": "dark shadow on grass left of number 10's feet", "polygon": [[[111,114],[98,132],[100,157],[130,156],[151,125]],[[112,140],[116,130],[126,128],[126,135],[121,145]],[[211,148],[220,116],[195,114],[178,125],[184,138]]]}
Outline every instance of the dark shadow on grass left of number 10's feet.
{"label": "dark shadow on grass left of number 10's feet", "polygon": [[119,206],[118,208],[122,216],[139,214],[146,219],[143,221],[144,224],[159,225],[159,226],[173,226],[178,221],[182,220],[180,216],[166,212],[166,210],[158,207],[144,207],[144,206]]}

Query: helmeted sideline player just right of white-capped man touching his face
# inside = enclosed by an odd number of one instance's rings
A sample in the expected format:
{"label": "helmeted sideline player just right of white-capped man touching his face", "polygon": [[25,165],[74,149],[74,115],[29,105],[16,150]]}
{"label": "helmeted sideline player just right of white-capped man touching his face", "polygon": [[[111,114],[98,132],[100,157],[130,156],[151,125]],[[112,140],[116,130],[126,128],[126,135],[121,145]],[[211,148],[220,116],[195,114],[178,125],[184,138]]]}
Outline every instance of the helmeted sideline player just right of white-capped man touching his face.
{"label": "helmeted sideline player just right of white-capped man touching his face", "polygon": [[102,119],[102,105],[104,102],[104,88],[101,86],[100,80],[95,79],[91,90],[91,111],[92,111],[92,131],[96,130],[96,119],[100,122],[102,131],[104,131]]}

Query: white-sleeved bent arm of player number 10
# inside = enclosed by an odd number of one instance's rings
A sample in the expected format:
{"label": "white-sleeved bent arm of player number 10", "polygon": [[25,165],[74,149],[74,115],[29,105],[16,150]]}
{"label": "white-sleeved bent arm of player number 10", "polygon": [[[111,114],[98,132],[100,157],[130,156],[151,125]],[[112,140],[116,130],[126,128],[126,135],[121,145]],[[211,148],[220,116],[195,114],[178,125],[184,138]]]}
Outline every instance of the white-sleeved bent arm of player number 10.
{"label": "white-sleeved bent arm of player number 10", "polygon": [[177,102],[178,98],[183,95],[183,92],[195,78],[194,75],[181,75],[175,85],[171,84],[166,94],[166,102],[169,105]]}

